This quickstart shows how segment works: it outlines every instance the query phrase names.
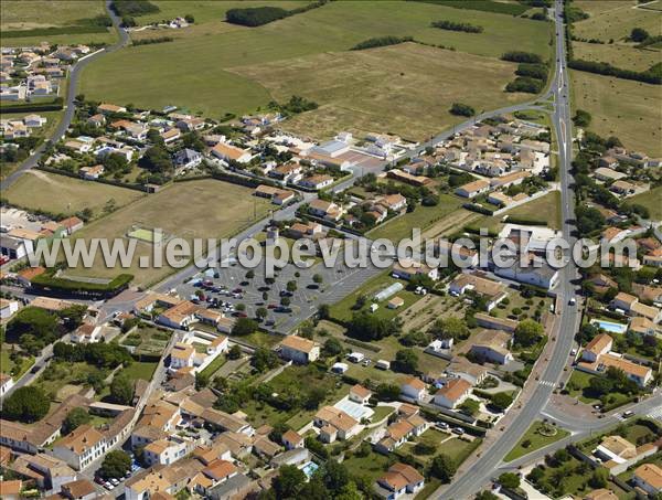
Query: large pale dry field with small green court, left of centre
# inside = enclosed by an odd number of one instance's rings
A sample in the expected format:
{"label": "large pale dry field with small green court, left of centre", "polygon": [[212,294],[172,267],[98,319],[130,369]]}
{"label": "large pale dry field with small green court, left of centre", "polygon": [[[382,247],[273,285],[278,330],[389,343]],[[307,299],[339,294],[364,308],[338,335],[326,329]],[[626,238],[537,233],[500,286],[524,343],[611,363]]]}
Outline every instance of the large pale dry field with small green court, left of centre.
{"label": "large pale dry field with small green court, left of centre", "polygon": [[[156,194],[148,195],[113,214],[89,224],[76,233],[77,238],[124,238],[132,225],[142,228],[161,228],[168,236],[177,236],[189,242],[192,238],[229,237],[243,227],[264,217],[269,202],[252,195],[249,188],[213,179],[177,182]],[[254,216],[255,214],[255,216]],[[135,276],[135,285],[149,285],[172,272],[162,268],[140,268],[140,256],[152,256],[149,243],[137,242],[131,267],[106,268],[100,255],[94,267],[67,269],[67,276],[113,278],[120,273]],[[151,260],[150,260],[151,262]],[[118,263],[119,264],[119,263]]]}

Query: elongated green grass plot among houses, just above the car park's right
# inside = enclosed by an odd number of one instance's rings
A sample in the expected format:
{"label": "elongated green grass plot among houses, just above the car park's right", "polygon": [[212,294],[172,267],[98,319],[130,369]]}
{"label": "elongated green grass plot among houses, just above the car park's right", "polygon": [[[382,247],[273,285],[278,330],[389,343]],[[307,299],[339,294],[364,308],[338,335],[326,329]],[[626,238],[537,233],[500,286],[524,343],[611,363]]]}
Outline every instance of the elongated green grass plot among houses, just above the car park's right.
{"label": "elongated green grass plot among houses, just above the car park's right", "polygon": [[412,237],[412,230],[418,227],[424,231],[444,217],[455,213],[462,205],[463,201],[452,194],[440,194],[437,206],[418,205],[414,212],[405,213],[398,217],[392,219],[369,233],[371,240],[381,237],[391,238],[392,242],[398,242],[405,237]]}

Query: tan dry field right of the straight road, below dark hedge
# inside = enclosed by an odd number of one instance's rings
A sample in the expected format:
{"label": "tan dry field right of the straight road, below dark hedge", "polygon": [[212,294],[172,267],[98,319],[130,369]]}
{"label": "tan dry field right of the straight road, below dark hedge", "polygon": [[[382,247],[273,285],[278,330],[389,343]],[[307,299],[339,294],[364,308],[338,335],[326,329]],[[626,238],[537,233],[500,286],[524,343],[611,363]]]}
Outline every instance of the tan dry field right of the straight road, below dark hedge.
{"label": "tan dry field right of the straight road, below dark hedge", "polygon": [[617,136],[628,149],[662,156],[662,87],[570,72],[575,108],[592,115],[589,130]]}

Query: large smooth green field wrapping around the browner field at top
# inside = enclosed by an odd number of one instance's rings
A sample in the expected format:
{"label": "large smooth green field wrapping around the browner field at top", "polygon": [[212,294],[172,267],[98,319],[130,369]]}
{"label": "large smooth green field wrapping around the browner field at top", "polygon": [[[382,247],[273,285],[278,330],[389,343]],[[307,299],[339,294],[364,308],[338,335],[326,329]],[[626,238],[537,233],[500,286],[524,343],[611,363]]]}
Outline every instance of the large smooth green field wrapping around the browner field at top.
{"label": "large smooth green field wrapping around the browner field at top", "polygon": [[[204,21],[204,15],[199,15]],[[480,24],[484,33],[430,28],[430,22],[439,19]],[[541,21],[419,2],[331,2],[258,28],[229,26],[221,20],[210,20],[190,30],[154,32],[180,38],[104,56],[85,68],[79,92],[88,98],[140,107],[175,104],[210,117],[227,111],[243,114],[266,105],[273,97],[264,85],[241,76],[235,71],[238,67],[279,62],[286,68],[288,60],[348,51],[366,39],[385,35],[415,36],[426,43],[452,45],[460,52],[491,57],[510,50],[548,57],[549,26]],[[150,38],[148,33],[140,36]],[[444,52],[439,54],[441,57]],[[329,82],[333,83],[342,84],[337,77]],[[367,94],[374,82],[362,84]],[[494,86],[501,91],[501,84],[499,81]],[[282,94],[289,98],[296,91],[284,88]],[[409,91],[413,89],[405,89],[403,97]]]}

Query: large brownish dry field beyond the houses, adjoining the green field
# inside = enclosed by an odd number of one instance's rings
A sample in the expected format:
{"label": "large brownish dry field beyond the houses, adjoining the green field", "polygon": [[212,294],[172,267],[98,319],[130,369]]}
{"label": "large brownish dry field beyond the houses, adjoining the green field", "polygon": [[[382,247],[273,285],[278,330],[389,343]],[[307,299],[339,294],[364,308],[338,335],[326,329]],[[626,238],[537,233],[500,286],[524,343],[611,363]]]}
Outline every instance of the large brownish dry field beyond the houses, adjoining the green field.
{"label": "large brownish dry field beyond the houses, adjoining the green field", "polygon": [[462,121],[460,102],[477,113],[530,99],[508,94],[514,64],[417,43],[318,54],[234,68],[264,85],[276,100],[302,95],[320,108],[282,124],[296,134],[329,138],[339,130],[388,131],[420,140]]}

